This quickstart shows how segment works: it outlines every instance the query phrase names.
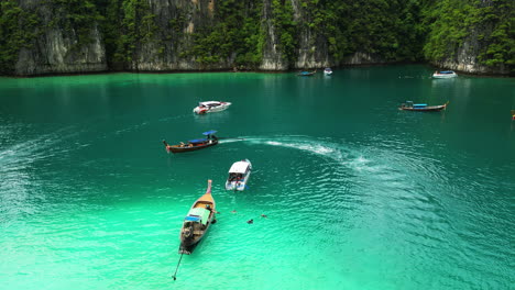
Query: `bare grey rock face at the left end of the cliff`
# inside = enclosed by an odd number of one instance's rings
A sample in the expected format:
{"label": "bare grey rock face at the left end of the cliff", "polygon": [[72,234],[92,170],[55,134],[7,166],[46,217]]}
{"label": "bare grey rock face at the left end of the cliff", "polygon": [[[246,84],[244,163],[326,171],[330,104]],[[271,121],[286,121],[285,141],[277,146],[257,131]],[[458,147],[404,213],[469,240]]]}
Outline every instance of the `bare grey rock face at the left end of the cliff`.
{"label": "bare grey rock face at the left end of the cliff", "polygon": [[[32,40],[31,48],[22,47],[15,75],[31,76],[45,74],[77,74],[108,70],[106,51],[96,23],[92,24],[86,45],[78,45],[77,31],[70,26],[52,24],[59,15],[54,14],[51,5],[37,0],[22,0],[20,7],[34,11],[41,20],[41,31]],[[56,22],[54,22],[56,23]]]}

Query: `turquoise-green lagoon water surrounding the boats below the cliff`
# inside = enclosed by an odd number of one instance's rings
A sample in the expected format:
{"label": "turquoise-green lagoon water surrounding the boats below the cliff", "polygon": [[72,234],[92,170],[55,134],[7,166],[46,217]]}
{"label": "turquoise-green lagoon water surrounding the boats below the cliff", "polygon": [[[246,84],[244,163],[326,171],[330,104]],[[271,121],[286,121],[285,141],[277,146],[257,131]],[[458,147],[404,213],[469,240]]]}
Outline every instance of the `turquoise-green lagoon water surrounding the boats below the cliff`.
{"label": "turquoise-green lagoon water surrounding the boats below the cliff", "polygon": [[[0,289],[513,289],[515,81],[431,72],[0,78]],[[218,223],[174,281],[208,179]]]}

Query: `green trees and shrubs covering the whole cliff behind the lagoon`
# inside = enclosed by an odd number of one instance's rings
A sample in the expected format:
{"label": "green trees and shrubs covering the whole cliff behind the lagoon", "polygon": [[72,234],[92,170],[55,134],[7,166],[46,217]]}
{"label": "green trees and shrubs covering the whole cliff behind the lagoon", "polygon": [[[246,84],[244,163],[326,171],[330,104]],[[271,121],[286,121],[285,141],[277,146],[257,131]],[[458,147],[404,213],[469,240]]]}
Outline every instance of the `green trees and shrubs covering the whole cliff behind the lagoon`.
{"label": "green trees and shrubs covering the whole cliff behind the lagoon", "polygon": [[[70,51],[98,40],[92,32],[100,32],[108,64],[130,69],[136,69],[139,62],[167,62],[171,55],[195,60],[204,68],[234,65],[252,69],[262,63],[265,47],[275,47],[287,65],[293,65],[300,53],[329,57],[335,64],[354,53],[386,62],[438,63],[457,59],[464,44],[473,47],[468,52],[482,65],[515,65],[513,0],[29,3],[23,9],[19,0],[0,3],[2,74],[13,71],[20,51],[34,48],[50,29],[61,30],[72,40]],[[272,31],[265,22],[272,23]],[[152,59],[141,59],[142,51],[151,52],[146,55]]]}

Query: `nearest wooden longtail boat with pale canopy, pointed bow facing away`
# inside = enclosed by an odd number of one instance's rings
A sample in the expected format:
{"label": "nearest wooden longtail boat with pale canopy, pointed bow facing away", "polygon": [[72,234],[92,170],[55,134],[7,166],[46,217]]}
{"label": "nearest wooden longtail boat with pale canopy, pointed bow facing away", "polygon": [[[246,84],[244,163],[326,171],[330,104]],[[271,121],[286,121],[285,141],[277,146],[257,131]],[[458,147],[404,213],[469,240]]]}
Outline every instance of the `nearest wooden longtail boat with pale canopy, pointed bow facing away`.
{"label": "nearest wooden longtail boat with pale canopy, pointed bow facing away", "polygon": [[211,196],[211,180],[208,180],[206,193],[197,199],[184,219],[180,228],[179,254],[189,255],[206,235],[209,226],[217,222],[216,204]]}

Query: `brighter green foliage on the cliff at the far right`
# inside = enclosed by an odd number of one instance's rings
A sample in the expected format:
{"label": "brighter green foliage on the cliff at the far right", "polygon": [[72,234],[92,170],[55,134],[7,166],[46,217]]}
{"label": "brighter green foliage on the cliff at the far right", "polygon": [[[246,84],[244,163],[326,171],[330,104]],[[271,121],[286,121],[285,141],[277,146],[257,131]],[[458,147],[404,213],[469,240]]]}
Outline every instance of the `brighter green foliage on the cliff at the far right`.
{"label": "brighter green foliage on the cliff at the far right", "polygon": [[482,64],[515,64],[515,2],[513,0],[439,0],[425,10],[429,27],[424,54],[429,60],[456,57],[463,42],[485,47]]}

